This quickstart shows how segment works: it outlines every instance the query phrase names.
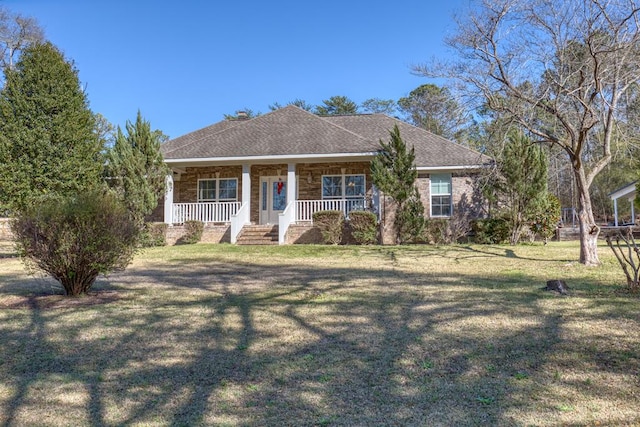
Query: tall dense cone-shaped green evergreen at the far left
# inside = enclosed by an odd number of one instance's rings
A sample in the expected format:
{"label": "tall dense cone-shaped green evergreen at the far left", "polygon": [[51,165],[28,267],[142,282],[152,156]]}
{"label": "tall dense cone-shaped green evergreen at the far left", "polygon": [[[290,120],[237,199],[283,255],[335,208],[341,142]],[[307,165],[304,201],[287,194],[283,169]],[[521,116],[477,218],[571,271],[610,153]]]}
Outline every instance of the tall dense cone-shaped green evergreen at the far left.
{"label": "tall dense cone-shaped green evergreen at the far left", "polygon": [[101,184],[101,142],[78,72],[51,43],[27,47],[0,92],[0,205]]}

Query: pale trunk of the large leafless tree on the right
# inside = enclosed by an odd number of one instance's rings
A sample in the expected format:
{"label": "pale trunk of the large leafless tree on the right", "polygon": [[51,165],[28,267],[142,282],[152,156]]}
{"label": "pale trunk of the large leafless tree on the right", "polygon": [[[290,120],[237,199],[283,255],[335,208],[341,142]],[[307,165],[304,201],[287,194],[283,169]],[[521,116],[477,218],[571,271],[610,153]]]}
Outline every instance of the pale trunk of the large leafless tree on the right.
{"label": "pale trunk of the large leafless tree on the right", "polygon": [[579,163],[574,167],[576,188],[578,191],[578,224],[580,226],[580,263],[589,266],[600,265],[598,258],[598,235],[600,227],[593,217],[589,183],[584,169]]}

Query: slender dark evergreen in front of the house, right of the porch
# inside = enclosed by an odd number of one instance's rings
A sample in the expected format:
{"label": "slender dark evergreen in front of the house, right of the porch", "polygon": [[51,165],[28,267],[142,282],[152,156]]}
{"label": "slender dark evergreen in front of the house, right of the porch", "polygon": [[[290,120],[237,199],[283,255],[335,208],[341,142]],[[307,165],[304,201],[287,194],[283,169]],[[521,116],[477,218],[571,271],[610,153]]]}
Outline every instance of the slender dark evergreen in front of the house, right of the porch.
{"label": "slender dark evergreen in front of the house, right of the porch", "polygon": [[396,242],[405,243],[422,233],[424,205],[415,185],[418,171],[413,147],[407,149],[398,126],[389,131],[389,136],[387,143],[380,140],[381,149],[371,161],[371,178],[376,187],[395,202]]}

